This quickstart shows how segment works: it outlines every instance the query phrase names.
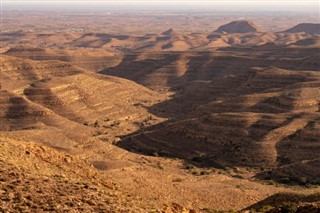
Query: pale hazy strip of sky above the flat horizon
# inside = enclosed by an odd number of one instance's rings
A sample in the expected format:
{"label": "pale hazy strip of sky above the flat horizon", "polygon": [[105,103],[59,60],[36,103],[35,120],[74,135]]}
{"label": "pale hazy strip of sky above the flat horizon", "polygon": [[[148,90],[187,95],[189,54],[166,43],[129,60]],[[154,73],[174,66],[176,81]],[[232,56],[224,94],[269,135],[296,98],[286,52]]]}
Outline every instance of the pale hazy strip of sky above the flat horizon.
{"label": "pale hazy strip of sky above the flat horizon", "polygon": [[3,10],[30,9],[165,9],[274,10],[319,13],[319,0],[0,0]]}

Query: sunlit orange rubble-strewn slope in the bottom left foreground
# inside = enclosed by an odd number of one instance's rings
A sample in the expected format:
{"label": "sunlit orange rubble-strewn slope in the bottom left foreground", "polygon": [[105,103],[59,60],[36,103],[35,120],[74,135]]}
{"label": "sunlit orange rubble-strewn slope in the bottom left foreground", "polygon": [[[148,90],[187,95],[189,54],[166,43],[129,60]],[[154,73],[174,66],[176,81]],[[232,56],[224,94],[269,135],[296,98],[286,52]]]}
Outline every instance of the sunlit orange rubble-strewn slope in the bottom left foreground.
{"label": "sunlit orange rubble-strewn slope in the bottom left foreground", "polygon": [[141,211],[78,157],[0,135],[1,203],[17,211]]}

